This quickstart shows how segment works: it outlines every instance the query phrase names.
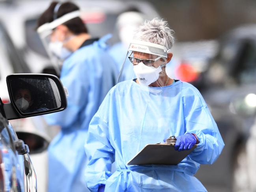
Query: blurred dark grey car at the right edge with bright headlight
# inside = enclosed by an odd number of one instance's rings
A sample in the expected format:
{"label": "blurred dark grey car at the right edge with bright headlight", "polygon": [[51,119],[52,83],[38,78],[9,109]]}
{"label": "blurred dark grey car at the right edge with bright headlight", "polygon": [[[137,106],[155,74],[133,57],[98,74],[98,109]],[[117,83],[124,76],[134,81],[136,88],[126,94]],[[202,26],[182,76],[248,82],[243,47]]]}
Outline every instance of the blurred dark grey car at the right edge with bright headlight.
{"label": "blurred dark grey car at the right edge with bright headlight", "polygon": [[[253,167],[248,158],[254,155],[246,145],[256,119],[256,25],[235,28],[219,44],[203,75],[202,95],[225,147],[217,162],[211,168],[202,166],[197,176],[203,183],[222,186],[222,191],[254,191],[248,170]],[[211,174],[204,174],[207,170]]]}

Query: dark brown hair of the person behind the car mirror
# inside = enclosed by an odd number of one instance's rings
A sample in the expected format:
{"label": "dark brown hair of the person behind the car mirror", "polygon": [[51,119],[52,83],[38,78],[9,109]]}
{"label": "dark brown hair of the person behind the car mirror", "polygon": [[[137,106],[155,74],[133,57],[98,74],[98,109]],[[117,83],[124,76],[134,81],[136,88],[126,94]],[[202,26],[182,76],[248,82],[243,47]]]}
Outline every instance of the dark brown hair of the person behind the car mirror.
{"label": "dark brown hair of the person behind the car mirror", "polygon": [[[54,12],[54,8],[58,3],[59,2],[56,2],[56,1],[52,2],[48,7],[48,9],[46,9],[45,12],[43,12],[43,14],[37,20],[37,28],[39,28],[41,25],[47,22],[52,22],[54,20],[53,12]],[[74,3],[71,3],[71,2],[62,3],[57,11],[56,19],[59,17],[62,17],[67,13],[70,13],[72,11],[77,11],[77,10],[79,10],[79,7]],[[63,24],[67,26],[67,28],[76,35],[81,33],[88,33],[88,30],[80,17],[71,19],[67,22],[64,22]]]}

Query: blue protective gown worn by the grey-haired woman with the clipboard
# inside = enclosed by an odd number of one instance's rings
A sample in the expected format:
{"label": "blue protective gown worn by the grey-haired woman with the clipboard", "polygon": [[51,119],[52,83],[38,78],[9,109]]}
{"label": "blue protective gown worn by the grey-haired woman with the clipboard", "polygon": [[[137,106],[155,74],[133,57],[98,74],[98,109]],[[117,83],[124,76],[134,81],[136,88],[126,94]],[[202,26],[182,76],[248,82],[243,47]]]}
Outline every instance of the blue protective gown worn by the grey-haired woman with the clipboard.
{"label": "blue protective gown worn by the grey-haired woman with the clipboard", "polygon": [[[200,143],[177,165],[128,166],[146,144],[172,135],[197,135]],[[129,80],[114,86],[90,122],[85,149],[86,183],[97,192],[206,191],[193,175],[219,157],[223,140],[199,91],[186,82],[162,88]],[[116,161],[114,173],[110,172]]]}

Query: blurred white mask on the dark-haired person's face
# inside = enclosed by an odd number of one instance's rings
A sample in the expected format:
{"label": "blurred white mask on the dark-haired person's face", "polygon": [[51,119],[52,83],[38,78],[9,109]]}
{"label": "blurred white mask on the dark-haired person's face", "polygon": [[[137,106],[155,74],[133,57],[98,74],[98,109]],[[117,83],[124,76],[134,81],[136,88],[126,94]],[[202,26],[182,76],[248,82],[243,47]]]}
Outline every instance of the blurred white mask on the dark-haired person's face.
{"label": "blurred white mask on the dark-haired person's face", "polygon": [[72,54],[67,48],[63,47],[61,41],[54,41],[49,43],[49,50],[61,60],[65,60],[68,56]]}

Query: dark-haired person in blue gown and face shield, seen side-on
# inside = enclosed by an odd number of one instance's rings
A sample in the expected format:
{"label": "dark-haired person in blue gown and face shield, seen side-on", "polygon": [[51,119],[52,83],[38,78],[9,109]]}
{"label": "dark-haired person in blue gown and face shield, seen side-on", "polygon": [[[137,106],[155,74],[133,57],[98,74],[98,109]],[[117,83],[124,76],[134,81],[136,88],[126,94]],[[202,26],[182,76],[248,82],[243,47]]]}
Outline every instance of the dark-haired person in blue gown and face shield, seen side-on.
{"label": "dark-haired person in blue gown and face shield, seen side-on", "polygon": [[92,38],[72,2],[52,2],[37,21],[37,32],[52,61],[63,62],[60,79],[68,89],[67,109],[45,115],[61,131],[49,145],[49,192],[86,188],[84,139],[88,125],[116,84],[108,37]]}

